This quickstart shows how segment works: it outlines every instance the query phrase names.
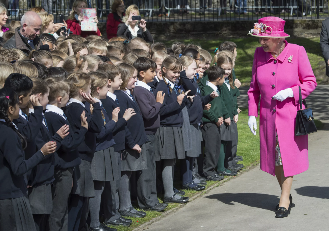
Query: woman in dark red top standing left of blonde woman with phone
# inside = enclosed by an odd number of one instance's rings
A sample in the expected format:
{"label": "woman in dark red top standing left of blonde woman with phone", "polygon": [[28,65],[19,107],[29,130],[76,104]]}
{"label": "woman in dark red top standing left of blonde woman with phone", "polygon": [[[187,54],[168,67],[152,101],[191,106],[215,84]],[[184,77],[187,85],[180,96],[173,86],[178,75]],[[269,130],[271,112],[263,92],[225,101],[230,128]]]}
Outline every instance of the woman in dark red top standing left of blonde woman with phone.
{"label": "woman in dark red top standing left of blonde woman with phone", "polygon": [[123,23],[122,17],[125,16],[124,2],[122,0],[114,0],[111,9],[112,13],[107,16],[106,22],[106,33],[108,39],[116,37],[118,26],[120,23]]}

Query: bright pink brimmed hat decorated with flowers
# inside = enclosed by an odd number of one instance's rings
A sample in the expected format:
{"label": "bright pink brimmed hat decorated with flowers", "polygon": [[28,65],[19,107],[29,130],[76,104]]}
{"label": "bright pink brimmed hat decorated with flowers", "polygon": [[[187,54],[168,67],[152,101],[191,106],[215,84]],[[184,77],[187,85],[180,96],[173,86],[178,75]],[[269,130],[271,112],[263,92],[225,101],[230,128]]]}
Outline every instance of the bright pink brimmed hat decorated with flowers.
{"label": "bright pink brimmed hat decorated with flowers", "polygon": [[256,37],[287,38],[290,35],[284,31],[286,21],[278,17],[264,17],[254,23],[254,28],[248,35]]}

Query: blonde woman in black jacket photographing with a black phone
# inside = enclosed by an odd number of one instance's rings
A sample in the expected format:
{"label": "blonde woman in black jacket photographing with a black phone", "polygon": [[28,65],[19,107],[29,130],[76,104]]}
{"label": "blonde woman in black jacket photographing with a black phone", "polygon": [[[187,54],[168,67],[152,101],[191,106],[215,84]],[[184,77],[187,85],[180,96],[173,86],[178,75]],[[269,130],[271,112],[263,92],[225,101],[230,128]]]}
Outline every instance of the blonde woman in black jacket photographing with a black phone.
{"label": "blonde woman in black jacket photographing with a black phone", "polygon": [[129,40],[139,37],[146,42],[153,42],[151,33],[146,29],[146,21],[141,19],[138,24],[138,20],[132,20],[132,16],[136,15],[140,15],[138,6],[135,4],[130,5],[126,10],[126,15],[122,19],[124,23],[119,24],[116,35],[126,36]]}

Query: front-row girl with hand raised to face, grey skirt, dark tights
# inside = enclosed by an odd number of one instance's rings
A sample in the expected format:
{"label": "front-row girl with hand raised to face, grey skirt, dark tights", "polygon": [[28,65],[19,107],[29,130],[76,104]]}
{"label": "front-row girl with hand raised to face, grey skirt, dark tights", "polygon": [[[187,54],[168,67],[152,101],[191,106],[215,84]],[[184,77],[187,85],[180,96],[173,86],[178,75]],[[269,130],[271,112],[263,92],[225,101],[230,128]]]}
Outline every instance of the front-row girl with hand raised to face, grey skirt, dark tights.
{"label": "front-row girl with hand raised to face, grey skirt, dark tights", "polygon": [[[90,96],[90,77],[84,72],[74,72],[67,78],[72,82],[69,102],[63,108],[73,132],[81,128],[81,113],[85,111],[88,131],[85,140],[78,147],[81,164],[74,168],[76,185],[73,185],[69,201],[68,230],[80,230],[86,225],[88,216],[89,198],[95,196],[94,183],[90,171],[91,161],[96,150],[96,134],[102,130],[103,119],[99,102]],[[91,108],[85,107],[82,102],[88,101]]]}

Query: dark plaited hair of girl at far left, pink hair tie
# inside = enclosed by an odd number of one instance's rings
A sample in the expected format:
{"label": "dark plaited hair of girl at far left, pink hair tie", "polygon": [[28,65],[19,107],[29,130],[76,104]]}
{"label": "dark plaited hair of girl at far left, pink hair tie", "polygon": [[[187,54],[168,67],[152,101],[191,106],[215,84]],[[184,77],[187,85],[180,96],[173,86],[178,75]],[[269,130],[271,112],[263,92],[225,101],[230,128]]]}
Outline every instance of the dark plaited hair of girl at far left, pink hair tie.
{"label": "dark plaited hair of girl at far left, pink hair tie", "polygon": [[27,146],[26,139],[21,133],[18,132],[13,122],[8,118],[7,114],[9,107],[14,107],[18,104],[18,102],[18,95],[11,88],[3,88],[0,90],[0,118],[4,119],[6,121],[6,125],[16,132],[22,142],[22,148],[24,150]]}

